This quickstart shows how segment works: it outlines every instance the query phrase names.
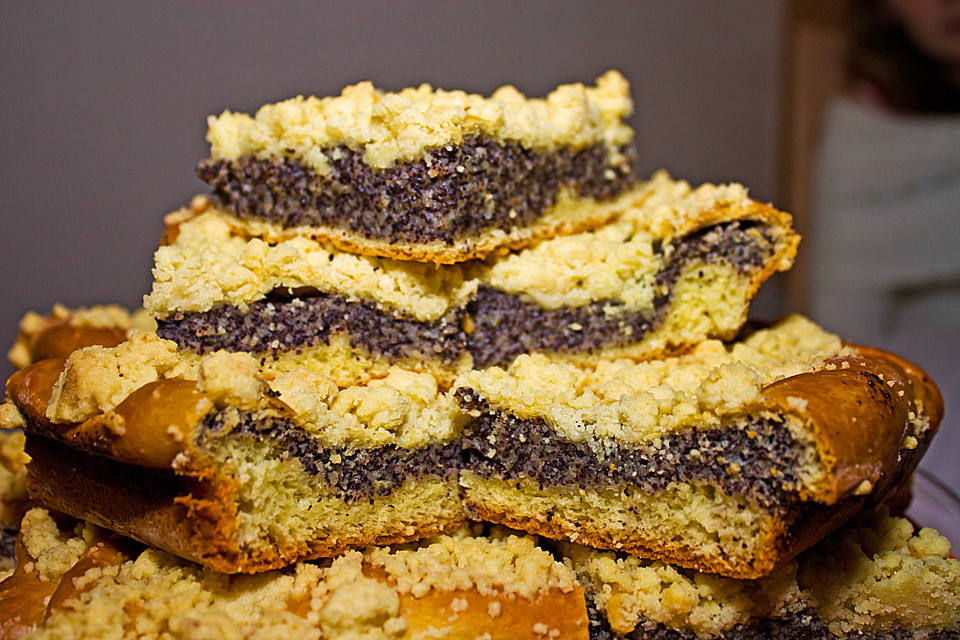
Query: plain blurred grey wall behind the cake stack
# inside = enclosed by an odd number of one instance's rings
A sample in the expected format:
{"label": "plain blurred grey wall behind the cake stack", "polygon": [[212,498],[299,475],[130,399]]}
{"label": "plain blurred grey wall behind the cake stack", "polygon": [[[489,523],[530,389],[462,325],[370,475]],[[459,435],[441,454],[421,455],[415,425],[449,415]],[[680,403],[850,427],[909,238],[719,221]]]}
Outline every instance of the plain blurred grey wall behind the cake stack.
{"label": "plain blurred grey wall behind the cake stack", "polygon": [[[0,347],[54,302],[136,306],[206,116],[372,80],[632,82],[644,171],[774,198],[776,0],[0,2]],[[0,365],[3,378],[11,372]]]}

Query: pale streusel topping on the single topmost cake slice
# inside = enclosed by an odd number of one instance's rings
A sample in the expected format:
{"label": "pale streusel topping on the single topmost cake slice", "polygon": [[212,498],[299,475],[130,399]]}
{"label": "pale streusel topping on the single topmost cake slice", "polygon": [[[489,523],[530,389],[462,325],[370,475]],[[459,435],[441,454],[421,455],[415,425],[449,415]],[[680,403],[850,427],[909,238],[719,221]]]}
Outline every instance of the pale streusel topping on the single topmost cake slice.
{"label": "pale streusel topping on the single topmost cake slice", "polygon": [[389,93],[362,82],[336,97],[299,96],[264,105],[255,117],[224,111],[208,119],[207,141],[214,159],[292,153],[326,173],[322,150],[341,144],[364,148],[364,160],[374,168],[415,159],[426,149],[455,145],[470,135],[534,149],[598,142],[618,146],[633,136],[623,122],[632,111],[629,85],[616,71],[600,76],[595,87],[563,85],[545,99],[528,99],[510,86],[484,98],[426,84]]}

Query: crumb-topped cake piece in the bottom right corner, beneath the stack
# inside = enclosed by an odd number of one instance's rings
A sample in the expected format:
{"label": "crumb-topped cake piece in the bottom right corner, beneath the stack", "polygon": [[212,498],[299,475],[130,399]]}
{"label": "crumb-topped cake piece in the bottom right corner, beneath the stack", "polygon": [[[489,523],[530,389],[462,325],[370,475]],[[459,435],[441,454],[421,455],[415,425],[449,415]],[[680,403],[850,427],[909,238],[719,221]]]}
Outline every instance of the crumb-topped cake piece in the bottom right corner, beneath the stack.
{"label": "crumb-topped cake piece in the bottom right corner, beneath the stack", "polygon": [[955,640],[960,561],[932,529],[885,508],[769,576],[734,580],[576,544],[592,640]]}

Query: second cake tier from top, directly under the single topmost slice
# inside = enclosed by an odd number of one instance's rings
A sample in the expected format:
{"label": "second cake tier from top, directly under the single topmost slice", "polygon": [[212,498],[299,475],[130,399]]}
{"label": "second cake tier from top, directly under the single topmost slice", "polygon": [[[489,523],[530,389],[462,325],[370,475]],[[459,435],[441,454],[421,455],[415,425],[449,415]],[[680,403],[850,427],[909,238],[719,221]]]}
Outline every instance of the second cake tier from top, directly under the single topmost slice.
{"label": "second cake tier from top, directly under the single topmost slice", "polygon": [[449,386],[524,353],[651,357],[732,338],[750,300],[789,268],[790,219],[737,185],[658,173],[614,222],[454,265],[345,253],[307,237],[251,237],[206,199],[168,218],[146,308],[196,353],[247,351],[341,385],[391,365]]}

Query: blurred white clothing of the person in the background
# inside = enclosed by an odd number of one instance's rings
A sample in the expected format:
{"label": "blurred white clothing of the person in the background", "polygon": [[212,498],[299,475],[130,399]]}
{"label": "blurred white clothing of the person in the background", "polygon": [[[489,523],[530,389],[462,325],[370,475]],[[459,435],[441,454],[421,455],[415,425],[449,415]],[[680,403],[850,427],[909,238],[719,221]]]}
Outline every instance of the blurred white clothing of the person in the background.
{"label": "blurred white clothing of the person in the background", "polygon": [[841,98],[820,145],[810,316],[933,376],[946,414],[921,466],[960,494],[960,117]]}

